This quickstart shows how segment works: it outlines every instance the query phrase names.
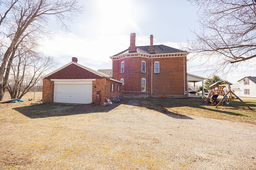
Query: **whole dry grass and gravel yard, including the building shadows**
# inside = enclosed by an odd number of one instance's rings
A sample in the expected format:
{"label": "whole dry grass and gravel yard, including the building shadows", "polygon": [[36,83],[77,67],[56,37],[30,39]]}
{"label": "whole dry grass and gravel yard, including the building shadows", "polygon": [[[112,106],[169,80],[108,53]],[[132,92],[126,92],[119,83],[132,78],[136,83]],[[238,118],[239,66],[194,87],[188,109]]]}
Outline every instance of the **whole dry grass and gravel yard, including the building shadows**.
{"label": "whole dry grass and gravel yard, including the building shadows", "polygon": [[0,169],[256,169],[256,112],[240,102],[30,105],[41,95],[0,104]]}

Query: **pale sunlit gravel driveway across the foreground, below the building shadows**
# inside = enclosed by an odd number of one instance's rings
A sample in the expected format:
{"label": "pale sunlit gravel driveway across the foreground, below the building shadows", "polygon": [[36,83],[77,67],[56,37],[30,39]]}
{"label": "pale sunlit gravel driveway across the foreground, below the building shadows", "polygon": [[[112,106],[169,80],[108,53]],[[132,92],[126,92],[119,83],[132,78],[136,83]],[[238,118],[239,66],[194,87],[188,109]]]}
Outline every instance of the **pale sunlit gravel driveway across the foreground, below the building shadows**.
{"label": "pale sunlit gravel driveway across the foreground, below the building shadows", "polygon": [[8,115],[0,122],[0,169],[27,155],[29,162],[16,168],[256,170],[256,125],[168,115],[137,105],[129,100],[108,112],[36,119],[19,113],[19,121],[12,121],[18,112]]}

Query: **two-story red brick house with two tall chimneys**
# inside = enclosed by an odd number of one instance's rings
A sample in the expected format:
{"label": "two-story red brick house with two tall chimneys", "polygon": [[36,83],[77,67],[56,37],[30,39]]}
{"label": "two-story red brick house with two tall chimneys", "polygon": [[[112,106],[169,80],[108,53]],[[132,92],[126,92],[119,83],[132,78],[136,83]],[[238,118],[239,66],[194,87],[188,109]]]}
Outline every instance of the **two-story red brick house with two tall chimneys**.
{"label": "two-story red brick house with two tall chimneys", "polygon": [[136,34],[130,34],[130,47],[112,57],[112,77],[124,82],[124,95],[186,95],[187,51],[165,45],[135,45]]}

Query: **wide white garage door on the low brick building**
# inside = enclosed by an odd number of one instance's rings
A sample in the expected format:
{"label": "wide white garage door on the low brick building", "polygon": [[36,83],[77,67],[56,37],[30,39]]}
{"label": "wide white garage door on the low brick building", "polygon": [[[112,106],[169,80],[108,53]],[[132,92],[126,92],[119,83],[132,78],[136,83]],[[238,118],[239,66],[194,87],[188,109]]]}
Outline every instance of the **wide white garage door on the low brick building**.
{"label": "wide white garage door on the low brick building", "polygon": [[68,82],[68,84],[54,82],[54,102],[77,104],[91,103],[92,82],[79,82],[79,84],[72,84],[72,82]]}

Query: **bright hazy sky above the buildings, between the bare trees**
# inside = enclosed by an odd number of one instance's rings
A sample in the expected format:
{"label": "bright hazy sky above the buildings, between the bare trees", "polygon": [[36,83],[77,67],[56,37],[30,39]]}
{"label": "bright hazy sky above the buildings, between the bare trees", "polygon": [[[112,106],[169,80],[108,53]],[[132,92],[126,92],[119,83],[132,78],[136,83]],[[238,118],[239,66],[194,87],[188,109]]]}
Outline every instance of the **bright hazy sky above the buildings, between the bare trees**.
{"label": "bright hazy sky above the buildings, between the bare trees", "polygon": [[[70,63],[72,57],[78,63],[94,70],[111,69],[109,58],[130,45],[130,33],[136,33],[136,46],[167,45],[182,49],[179,45],[193,39],[190,29],[198,28],[196,7],[186,0],[79,0],[84,13],[79,14],[70,31],[52,21],[50,27],[55,33],[52,39],[42,43],[42,51],[53,56],[59,67]],[[188,59],[190,57],[188,56]],[[188,61],[187,72],[208,78],[207,64]],[[201,66],[201,67],[200,67]],[[200,67],[200,68],[199,68]],[[232,83],[245,76],[256,76],[255,67],[244,72],[232,72],[222,76]]]}

